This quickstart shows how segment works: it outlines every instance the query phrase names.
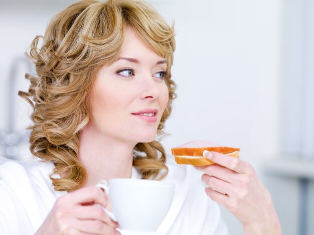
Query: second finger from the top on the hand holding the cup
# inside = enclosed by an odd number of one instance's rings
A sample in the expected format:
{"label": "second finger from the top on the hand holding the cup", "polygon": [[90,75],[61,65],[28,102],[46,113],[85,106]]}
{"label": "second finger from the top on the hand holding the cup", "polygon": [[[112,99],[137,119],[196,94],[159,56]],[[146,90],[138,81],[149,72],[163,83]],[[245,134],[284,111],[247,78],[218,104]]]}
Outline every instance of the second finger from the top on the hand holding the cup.
{"label": "second finger from the top on the hand holding the cup", "polygon": [[117,222],[113,221],[101,207],[96,205],[77,206],[74,208],[73,214],[79,219],[96,219],[113,228],[119,227]]}

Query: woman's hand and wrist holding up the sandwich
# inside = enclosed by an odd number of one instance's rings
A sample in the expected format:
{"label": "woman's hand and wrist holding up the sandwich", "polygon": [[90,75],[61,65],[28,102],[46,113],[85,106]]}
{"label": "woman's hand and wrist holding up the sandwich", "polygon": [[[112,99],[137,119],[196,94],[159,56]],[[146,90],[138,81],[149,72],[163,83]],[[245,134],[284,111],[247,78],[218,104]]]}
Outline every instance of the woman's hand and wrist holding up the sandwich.
{"label": "woman's hand and wrist holding up the sandwich", "polygon": [[203,155],[216,163],[195,166],[205,173],[205,192],[239,219],[244,234],[281,234],[270,193],[254,168],[246,161],[218,152],[205,150]]}

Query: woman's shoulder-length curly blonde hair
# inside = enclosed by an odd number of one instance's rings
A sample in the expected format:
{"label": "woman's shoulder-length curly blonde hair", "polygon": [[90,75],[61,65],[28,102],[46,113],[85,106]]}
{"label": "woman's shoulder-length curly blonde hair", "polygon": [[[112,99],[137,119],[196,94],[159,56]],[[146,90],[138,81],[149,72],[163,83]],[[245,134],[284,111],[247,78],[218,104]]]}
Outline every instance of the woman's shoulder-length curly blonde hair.
{"label": "woman's shoulder-length curly blonde hair", "polygon": [[[151,5],[139,0],[78,1],[59,12],[45,35],[36,36],[31,44],[27,55],[36,66],[36,75],[26,74],[30,87],[19,95],[34,108],[30,149],[41,160],[55,164],[50,175],[55,190],[71,191],[85,183],[78,133],[90,120],[88,94],[97,70],[118,59],[126,26],[167,60],[169,102],[157,129],[157,136],[162,137],[176,97],[171,79],[174,24],[169,26]],[[137,143],[133,165],[143,179],[162,179],[168,174],[165,149],[158,140]],[[61,173],[66,176],[54,177]]]}

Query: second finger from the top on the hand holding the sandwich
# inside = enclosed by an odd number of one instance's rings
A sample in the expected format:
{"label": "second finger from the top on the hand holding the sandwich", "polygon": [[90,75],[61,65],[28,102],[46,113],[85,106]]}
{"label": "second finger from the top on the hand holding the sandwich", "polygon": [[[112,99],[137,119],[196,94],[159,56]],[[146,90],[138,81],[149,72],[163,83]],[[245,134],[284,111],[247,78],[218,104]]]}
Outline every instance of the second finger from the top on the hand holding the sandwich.
{"label": "second finger from the top on the hand holding the sandwich", "polygon": [[230,183],[235,182],[238,175],[237,172],[218,164],[195,166],[195,168]]}

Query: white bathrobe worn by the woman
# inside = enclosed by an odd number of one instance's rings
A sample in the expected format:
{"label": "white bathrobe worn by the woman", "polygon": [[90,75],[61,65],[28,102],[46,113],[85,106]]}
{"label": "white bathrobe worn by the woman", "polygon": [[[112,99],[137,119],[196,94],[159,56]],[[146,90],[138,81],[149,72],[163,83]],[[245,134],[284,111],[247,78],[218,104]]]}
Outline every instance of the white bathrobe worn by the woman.
{"label": "white bathrobe worn by the woman", "polygon": [[[168,176],[176,185],[172,205],[154,233],[147,234],[228,234],[218,205],[205,193],[200,180],[191,175],[192,166],[177,165],[168,157]],[[21,162],[0,157],[0,234],[34,234],[52,209],[56,198],[65,191],[55,191],[49,174],[52,162]],[[140,178],[132,168],[131,178]],[[122,234],[144,234],[121,231]]]}

